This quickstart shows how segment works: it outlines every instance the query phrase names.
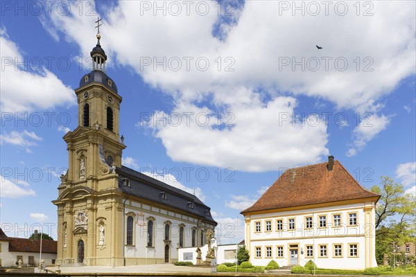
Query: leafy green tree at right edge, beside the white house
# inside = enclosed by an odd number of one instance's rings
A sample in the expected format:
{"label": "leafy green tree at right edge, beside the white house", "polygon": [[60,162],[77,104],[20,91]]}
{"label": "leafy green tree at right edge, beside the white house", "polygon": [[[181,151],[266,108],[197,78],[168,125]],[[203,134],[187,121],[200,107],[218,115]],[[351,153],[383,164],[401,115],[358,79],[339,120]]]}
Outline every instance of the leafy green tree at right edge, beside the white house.
{"label": "leafy green tree at right edge, beside the white house", "polygon": [[[392,252],[392,244],[403,244],[415,235],[416,199],[404,194],[404,186],[386,176],[380,186],[371,188],[381,195],[376,205],[376,260],[383,263],[384,254]],[[414,239],[414,238],[413,238]]]}

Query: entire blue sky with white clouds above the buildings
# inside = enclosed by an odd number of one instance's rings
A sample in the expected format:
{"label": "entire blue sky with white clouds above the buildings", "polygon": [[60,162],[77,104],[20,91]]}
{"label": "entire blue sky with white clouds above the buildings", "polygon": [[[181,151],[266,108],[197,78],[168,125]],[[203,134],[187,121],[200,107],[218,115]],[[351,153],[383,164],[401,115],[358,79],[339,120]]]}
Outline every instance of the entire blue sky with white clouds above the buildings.
{"label": "entire blue sky with white clouds above the buildings", "polygon": [[8,235],[42,224],[56,238],[62,136],[77,126],[97,17],[123,97],[124,165],[195,192],[221,242],[243,238],[239,212],[284,168],[328,154],[366,188],[387,175],[415,194],[413,1],[172,3],[2,1]]}

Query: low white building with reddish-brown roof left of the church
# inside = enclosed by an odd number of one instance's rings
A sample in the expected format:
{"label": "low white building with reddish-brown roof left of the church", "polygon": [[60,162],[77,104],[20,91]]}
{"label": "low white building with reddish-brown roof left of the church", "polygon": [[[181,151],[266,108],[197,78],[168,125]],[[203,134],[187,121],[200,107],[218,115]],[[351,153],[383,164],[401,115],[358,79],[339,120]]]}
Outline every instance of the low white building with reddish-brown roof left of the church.
{"label": "low white building with reddish-brown roof left of the church", "polygon": [[[55,264],[56,247],[55,240],[42,240],[42,260],[46,266]],[[24,267],[37,267],[40,263],[39,254],[40,238],[10,238],[0,229],[1,267],[16,266],[19,260]]]}

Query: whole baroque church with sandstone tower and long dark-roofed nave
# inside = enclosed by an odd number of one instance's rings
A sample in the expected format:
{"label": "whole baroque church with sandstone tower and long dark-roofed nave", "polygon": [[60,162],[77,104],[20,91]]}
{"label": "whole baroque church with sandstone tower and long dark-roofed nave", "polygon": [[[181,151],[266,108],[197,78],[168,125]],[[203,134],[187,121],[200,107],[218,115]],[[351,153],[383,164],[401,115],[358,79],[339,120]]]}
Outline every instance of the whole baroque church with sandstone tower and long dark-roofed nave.
{"label": "whole baroque church with sandstone tower and long dark-roofed nave", "polygon": [[122,98],[105,73],[99,28],[97,39],[92,71],[75,89],[78,127],[63,137],[69,165],[53,201],[56,262],[112,267],[175,262],[177,249],[205,245],[205,234],[217,223],[195,195],[122,166]]}

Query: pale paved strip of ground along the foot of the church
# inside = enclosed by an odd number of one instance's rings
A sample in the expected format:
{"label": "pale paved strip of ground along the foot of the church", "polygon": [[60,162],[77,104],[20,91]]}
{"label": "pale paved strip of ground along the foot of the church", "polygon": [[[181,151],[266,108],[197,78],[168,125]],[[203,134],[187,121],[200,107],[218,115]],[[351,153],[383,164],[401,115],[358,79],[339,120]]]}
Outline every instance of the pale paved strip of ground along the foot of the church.
{"label": "pale paved strip of ground along the foot of the church", "polygon": [[164,272],[200,272],[209,273],[206,267],[180,267],[171,264],[161,265],[129,265],[125,267],[61,267],[62,273],[164,273]]}

